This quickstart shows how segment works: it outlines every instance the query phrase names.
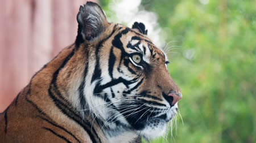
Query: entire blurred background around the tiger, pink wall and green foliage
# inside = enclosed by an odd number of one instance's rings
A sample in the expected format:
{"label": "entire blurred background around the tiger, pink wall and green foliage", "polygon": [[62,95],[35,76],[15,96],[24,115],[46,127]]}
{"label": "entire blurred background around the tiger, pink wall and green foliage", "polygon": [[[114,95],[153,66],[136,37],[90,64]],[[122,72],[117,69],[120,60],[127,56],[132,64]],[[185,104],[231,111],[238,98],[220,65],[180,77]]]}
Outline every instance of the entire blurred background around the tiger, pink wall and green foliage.
{"label": "entire blurred background around the tiger, pink wall and green foliage", "polygon": [[[110,22],[142,21],[168,49],[179,85],[176,124],[151,142],[256,142],[256,1],[97,1]],[[1,1],[0,111],[71,44],[85,1]]]}

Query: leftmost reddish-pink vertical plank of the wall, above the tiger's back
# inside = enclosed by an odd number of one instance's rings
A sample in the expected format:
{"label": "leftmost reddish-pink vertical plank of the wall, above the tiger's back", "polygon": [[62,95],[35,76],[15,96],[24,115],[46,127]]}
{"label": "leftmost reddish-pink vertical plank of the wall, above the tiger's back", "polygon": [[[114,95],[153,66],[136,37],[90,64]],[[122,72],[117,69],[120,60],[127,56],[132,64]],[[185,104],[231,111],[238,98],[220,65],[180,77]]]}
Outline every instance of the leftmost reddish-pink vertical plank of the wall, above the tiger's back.
{"label": "leftmost reddish-pink vertical plank of the wall, above the tiger's back", "polygon": [[[5,1],[3,8],[3,51],[1,106],[10,101],[28,83],[28,47],[30,45],[30,1]],[[2,37],[2,36],[1,36]]]}

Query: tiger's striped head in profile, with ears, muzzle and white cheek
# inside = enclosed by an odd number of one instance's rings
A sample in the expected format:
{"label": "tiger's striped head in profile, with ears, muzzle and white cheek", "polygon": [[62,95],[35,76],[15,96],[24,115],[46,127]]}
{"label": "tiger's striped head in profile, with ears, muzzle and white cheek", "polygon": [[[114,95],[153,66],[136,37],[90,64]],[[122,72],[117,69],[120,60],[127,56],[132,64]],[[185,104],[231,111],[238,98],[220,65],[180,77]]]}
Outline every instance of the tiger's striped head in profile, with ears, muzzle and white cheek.
{"label": "tiger's striped head in profile, with ears, muzzle and white cheek", "polygon": [[76,47],[88,49],[81,114],[89,108],[104,132],[162,136],[181,98],[167,70],[167,55],[147,37],[144,24],[109,23],[96,3],[81,6],[77,21]]}

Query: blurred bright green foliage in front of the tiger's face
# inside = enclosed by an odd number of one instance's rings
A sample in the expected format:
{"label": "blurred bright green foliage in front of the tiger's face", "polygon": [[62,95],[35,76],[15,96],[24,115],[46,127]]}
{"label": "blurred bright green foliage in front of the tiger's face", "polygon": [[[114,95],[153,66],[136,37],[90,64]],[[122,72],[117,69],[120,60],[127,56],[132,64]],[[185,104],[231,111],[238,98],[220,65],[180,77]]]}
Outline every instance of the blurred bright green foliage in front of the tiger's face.
{"label": "blurred bright green foliage in front of the tiger's face", "polygon": [[253,0],[142,1],[167,33],[168,68],[183,93],[184,124],[178,117],[173,137],[151,142],[256,142],[255,6]]}

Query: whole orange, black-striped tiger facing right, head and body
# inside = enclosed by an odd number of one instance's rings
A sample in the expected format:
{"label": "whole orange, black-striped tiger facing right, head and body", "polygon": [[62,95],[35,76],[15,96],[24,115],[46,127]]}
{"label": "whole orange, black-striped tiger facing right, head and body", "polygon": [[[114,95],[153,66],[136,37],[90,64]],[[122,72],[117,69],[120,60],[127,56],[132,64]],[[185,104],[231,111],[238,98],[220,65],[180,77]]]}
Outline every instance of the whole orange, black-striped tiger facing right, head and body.
{"label": "whole orange, black-striped tiger facing right, head and body", "polygon": [[163,136],[182,95],[143,23],[109,23],[97,3],[77,14],[73,44],[0,115],[0,142],[142,142]]}

